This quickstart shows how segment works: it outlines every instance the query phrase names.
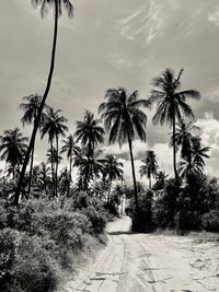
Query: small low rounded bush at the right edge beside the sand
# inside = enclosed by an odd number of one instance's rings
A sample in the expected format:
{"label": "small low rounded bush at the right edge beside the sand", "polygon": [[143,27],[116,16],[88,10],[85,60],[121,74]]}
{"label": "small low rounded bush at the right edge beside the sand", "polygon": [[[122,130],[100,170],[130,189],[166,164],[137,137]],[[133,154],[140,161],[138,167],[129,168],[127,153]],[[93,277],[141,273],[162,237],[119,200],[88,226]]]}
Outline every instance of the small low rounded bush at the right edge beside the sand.
{"label": "small low rounded bush at the right edge beside the sand", "polygon": [[219,232],[219,211],[211,210],[201,218],[203,229],[210,232]]}

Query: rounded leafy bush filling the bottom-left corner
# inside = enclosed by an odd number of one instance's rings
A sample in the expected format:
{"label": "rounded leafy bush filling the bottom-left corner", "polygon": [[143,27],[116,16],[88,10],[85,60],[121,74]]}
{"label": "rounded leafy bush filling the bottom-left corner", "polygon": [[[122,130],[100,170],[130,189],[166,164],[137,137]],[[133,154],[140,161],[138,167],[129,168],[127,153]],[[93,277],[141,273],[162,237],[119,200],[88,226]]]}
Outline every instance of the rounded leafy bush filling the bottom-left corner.
{"label": "rounded leafy bush filling the bottom-left corner", "polygon": [[55,289],[57,262],[44,248],[44,240],[24,232],[0,232],[0,291],[45,292]]}

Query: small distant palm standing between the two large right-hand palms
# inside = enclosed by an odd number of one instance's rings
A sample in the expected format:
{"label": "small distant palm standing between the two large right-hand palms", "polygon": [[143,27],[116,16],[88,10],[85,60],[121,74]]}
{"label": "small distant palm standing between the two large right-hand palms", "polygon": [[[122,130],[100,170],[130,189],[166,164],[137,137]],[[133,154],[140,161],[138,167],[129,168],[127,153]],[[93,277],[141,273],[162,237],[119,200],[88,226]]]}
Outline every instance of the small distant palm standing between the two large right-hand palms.
{"label": "small distant palm standing between the two large right-hand palms", "polygon": [[140,176],[147,176],[149,179],[149,188],[151,189],[151,178],[155,177],[158,173],[158,162],[152,150],[146,151],[145,160],[141,160],[143,165],[140,166]]}

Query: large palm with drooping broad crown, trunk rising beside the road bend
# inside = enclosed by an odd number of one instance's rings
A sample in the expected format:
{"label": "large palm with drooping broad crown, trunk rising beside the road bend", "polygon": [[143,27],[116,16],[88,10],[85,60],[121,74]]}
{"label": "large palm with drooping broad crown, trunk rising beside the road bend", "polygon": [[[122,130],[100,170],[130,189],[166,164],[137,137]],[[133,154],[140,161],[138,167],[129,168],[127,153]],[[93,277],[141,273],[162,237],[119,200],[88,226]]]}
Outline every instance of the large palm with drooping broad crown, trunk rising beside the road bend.
{"label": "large palm with drooping broad crown, trunk rising beside the road bend", "polygon": [[146,141],[147,116],[140,107],[147,106],[148,102],[138,100],[137,91],[128,95],[123,87],[107,90],[105,98],[106,102],[100,105],[99,112],[102,114],[101,117],[104,120],[106,131],[110,132],[108,143],[111,144],[118,141],[120,147],[125,142],[128,142],[129,145],[136,212],[138,212],[138,194],[132,155],[132,141],[137,137],[139,137],[141,141]]}

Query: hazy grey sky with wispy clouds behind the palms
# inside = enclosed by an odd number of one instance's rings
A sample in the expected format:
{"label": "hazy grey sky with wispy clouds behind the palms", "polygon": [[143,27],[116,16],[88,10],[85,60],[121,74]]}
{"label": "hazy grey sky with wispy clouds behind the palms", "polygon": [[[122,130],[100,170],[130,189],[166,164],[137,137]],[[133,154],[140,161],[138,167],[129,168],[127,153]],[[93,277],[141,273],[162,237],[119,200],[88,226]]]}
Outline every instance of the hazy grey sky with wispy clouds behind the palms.
{"label": "hazy grey sky with wispy clouds behind the palms", "polygon": [[[219,176],[219,3],[217,0],[77,0],[72,20],[58,32],[56,67],[47,103],[68,118],[70,132],[88,108],[96,114],[108,87],[139,90],[146,98],[151,79],[165,68],[184,68],[182,89],[201,92],[193,102],[204,144],[211,147],[207,173]],[[49,68],[53,17],[41,19],[31,0],[0,1],[0,133],[19,126],[21,98],[43,94]],[[134,144],[137,168],[147,149],[171,172],[170,129],[151,124],[147,143]],[[31,128],[24,129],[30,136]],[[47,141],[37,141],[35,160],[45,157]],[[118,153],[116,145],[105,151]],[[130,176],[128,148],[122,152]]]}

